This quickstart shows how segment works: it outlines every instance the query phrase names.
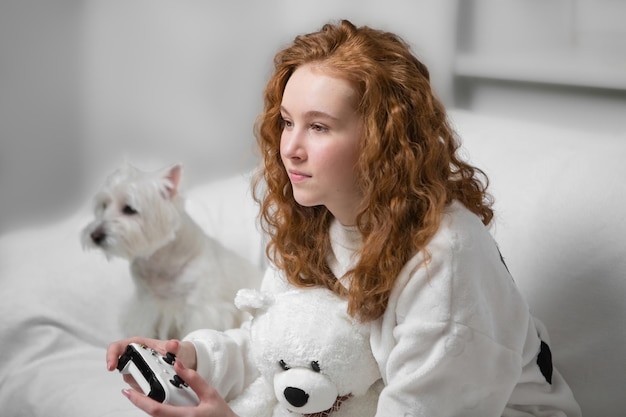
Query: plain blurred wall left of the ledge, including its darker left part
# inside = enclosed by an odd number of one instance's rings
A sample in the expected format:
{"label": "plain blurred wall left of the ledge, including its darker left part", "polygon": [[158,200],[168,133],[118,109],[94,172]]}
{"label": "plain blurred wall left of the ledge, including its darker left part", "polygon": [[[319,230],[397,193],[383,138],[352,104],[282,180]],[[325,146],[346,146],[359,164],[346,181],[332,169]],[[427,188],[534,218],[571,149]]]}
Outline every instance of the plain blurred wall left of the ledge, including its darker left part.
{"label": "plain blurred wall left of the ledge, including its darker left part", "polygon": [[[451,96],[454,0],[0,2],[0,232],[83,206],[127,157],[187,185],[250,168],[274,53],[349,18],[392,30]],[[6,64],[3,62],[3,64]],[[7,103],[12,105],[7,112]],[[27,128],[26,128],[27,127]],[[24,191],[24,188],[28,191]],[[11,203],[8,204],[7,201]]]}

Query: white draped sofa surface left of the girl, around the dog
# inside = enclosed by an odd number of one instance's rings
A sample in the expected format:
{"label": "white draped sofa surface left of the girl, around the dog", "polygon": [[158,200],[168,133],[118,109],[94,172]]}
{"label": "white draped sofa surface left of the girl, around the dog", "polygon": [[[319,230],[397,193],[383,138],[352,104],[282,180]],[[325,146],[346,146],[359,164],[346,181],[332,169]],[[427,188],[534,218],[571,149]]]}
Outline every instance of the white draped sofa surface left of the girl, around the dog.
{"label": "white draped sofa surface left of the girl, around the dog", "polygon": [[[210,235],[259,263],[261,235],[249,179],[193,189],[188,210]],[[40,230],[0,238],[0,415],[134,416],[119,374],[106,371],[118,313],[132,297],[128,263],[83,251],[84,209]]]}

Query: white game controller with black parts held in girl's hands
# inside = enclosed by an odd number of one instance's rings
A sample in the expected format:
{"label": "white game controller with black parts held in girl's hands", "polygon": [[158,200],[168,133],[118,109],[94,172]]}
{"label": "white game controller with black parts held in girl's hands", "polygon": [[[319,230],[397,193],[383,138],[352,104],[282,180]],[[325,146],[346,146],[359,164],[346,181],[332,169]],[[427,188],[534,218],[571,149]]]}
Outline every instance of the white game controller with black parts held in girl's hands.
{"label": "white game controller with black parts held in girl's hands", "polygon": [[175,356],[160,353],[145,345],[131,343],[117,362],[117,369],[135,378],[148,397],[164,404],[194,406],[198,396],[174,372]]}

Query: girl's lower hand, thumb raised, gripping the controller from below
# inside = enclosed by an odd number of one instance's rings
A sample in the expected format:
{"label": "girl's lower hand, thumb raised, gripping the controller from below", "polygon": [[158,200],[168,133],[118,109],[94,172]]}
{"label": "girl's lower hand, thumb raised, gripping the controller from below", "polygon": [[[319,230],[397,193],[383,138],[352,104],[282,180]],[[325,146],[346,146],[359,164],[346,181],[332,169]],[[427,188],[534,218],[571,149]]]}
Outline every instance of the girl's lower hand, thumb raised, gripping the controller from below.
{"label": "girl's lower hand, thumb raised, gripping the controller from below", "polygon": [[226,401],[197,372],[185,368],[180,361],[174,362],[174,370],[200,399],[196,407],[180,407],[162,404],[141,392],[125,389],[122,393],[137,408],[153,417],[237,417]]}

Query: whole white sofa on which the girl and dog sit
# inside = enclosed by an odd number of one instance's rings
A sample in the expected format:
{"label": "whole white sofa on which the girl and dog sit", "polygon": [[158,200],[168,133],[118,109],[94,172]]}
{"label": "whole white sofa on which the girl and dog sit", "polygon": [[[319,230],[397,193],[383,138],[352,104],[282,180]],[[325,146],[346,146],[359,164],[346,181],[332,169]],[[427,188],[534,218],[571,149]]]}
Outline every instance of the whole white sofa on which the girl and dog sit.
{"label": "whole white sofa on which the girl and dog sit", "polygon": [[[455,111],[468,159],[490,176],[493,233],[554,361],[588,417],[626,412],[626,137]],[[189,190],[207,232],[262,266],[242,174]],[[0,237],[0,414],[139,416],[105,370],[132,294],[127,265],[84,252],[88,210]]]}

